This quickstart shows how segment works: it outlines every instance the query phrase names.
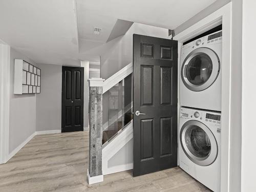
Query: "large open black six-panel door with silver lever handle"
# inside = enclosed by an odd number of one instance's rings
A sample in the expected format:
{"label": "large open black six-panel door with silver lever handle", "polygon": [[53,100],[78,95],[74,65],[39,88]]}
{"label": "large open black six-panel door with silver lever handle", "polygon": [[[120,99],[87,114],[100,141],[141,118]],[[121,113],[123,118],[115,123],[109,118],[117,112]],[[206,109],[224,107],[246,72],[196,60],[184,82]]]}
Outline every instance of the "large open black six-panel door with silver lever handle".
{"label": "large open black six-panel door with silver lever handle", "polygon": [[177,46],[133,36],[134,176],[177,166]]}

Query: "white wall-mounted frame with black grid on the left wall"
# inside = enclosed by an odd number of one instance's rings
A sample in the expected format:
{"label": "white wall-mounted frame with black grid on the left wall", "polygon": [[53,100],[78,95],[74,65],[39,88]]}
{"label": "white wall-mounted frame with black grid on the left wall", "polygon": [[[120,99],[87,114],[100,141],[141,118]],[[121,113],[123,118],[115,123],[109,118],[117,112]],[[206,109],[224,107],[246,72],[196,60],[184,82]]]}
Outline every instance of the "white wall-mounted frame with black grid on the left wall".
{"label": "white wall-mounted frame with black grid on the left wall", "polygon": [[22,59],[14,61],[14,94],[41,92],[41,70]]}

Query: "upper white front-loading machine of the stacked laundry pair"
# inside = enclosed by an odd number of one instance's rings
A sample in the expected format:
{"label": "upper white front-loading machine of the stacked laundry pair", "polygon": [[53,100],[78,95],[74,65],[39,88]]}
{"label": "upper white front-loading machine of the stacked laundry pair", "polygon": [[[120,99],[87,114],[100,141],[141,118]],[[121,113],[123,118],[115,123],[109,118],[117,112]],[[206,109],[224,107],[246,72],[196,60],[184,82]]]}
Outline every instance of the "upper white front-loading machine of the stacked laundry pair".
{"label": "upper white front-loading machine of the stacked laundry pair", "polygon": [[222,31],[182,46],[180,105],[221,111]]}

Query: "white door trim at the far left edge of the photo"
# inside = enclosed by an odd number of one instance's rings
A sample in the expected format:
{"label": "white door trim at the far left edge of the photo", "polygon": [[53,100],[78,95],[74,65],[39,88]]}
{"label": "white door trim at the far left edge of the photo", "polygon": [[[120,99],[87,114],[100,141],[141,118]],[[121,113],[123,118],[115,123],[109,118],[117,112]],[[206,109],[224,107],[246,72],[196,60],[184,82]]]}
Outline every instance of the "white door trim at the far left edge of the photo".
{"label": "white door trim at the far left edge of the photo", "polygon": [[0,164],[9,160],[10,46],[0,40]]}

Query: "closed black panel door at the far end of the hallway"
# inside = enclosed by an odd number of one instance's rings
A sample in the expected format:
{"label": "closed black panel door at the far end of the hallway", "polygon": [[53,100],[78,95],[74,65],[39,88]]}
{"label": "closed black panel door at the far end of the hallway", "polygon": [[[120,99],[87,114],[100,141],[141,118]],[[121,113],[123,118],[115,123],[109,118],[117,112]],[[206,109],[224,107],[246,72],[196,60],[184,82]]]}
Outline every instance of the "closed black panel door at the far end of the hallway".
{"label": "closed black panel door at the far end of the hallway", "polygon": [[61,132],[83,131],[83,68],[62,67]]}

